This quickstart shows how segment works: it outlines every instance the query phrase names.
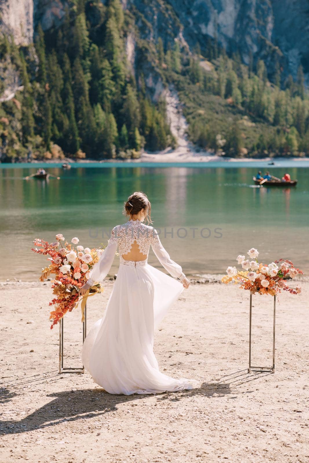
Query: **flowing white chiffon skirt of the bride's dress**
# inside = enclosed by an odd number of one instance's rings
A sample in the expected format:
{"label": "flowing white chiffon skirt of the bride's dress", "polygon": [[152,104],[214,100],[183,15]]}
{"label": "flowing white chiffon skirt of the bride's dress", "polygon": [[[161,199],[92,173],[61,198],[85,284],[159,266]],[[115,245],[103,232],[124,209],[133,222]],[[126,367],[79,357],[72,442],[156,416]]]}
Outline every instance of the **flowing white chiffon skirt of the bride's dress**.
{"label": "flowing white chiffon skirt of the bride's dress", "polygon": [[183,291],[182,283],[148,263],[120,264],[106,310],[89,331],[82,363],[110,394],[156,394],[192,389],[186,378],[160,372],[154,328]]}

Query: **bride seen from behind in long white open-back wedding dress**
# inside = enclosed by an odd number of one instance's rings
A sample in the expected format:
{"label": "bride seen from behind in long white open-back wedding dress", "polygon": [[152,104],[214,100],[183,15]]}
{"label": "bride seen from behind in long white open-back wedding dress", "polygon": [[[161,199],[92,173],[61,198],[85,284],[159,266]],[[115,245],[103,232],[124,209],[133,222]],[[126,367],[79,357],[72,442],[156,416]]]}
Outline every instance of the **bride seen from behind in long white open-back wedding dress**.
{"label": "bride seen from behind in long white open-back wedding dress", "polygon": [[[151,222],[151,204],[142,192],[131,194],[124,206],[130,219],[113,228],[100,260],[79,290],[86,293],[102,282],[119,247],[120,266],[104,315],[88,333],[82,363],[93,380],[110,394],[156,394],[192,389],[188,379],[160,372],[153,353],[153,331],[167,309],[189,288],[182,268],[170,259]],[[147,263],[152,248],[174,280]]]}

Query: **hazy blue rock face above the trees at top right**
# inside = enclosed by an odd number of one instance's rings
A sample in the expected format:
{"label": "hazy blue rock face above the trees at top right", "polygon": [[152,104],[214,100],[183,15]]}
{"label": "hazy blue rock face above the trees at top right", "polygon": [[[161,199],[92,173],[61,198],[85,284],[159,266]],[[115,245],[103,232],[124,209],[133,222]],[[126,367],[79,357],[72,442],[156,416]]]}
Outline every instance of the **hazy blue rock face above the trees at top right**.
{"label": "hazy blue rock face above the trees at top right", "polygon": [[[141,11],[140,0],[130,5]],[[309,2],[308,0],[169,0],[181,24],[182,36],[190,47],[207,47],[211,38],[228,53],[239,52],[244,63],[250,55],[265,61],[270,73],[276,62],[283,75],[296,77],[303,65],[309,80]],[[164,36],[165,21],[148,17],[154,37]]]}

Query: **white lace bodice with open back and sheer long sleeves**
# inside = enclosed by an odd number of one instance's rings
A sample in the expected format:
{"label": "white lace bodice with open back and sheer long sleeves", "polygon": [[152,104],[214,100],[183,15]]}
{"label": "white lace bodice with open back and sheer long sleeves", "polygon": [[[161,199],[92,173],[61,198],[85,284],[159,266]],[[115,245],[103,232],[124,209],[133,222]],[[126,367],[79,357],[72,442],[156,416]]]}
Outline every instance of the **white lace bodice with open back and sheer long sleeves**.
{"label": "white lace bodice with open back and sheer long sleeves", "polygon": [[[134,242],[138,244],[140,253],[147,256],[145,260],[135,262],[122,257],[122,255],[126,255],[131,251]],[[88,285],[91,286],[94,282],[102,282],[104,280],[112,266],[117,247],[119,247],[120,265],[140,267],[147,264],[150,246],[170,275],[180,278],[180,280],[185,278],[181,266],[171,260],[169,254],[162,246],[157,230],[143,224],[140,220],[129,220],[125,224],[116,225],[113,228],[106,249],[101,254],[100,260],[95,263],[89,272]]]}

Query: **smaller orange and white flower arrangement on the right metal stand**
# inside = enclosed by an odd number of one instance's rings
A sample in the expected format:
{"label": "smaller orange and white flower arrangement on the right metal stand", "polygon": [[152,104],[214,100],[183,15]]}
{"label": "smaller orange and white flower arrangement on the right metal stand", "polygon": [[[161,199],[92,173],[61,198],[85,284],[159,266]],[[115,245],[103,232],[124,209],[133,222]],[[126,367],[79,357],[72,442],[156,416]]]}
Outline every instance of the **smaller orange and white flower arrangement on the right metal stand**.
{"label": "smaller orange and white flower arrangement on the right metal stand", "polygon": [[303,275],[303,271],[296,269],[289,260],[280,259],[268,265],[259,263],[257,257],[259,251],[255,248],[247,252],[253,260],[245,259],[245,256],[238,256],[237,262],[244,270],[237,270],[236,267],[227,267],[227,275],[221,279],[222,283],[240,283],[240,288],[249,289],[252,294],[270,294],[275,296],[281,291],[289,291],[291,294],[299,294],[302,288],[296,285],[291,288],[286,284],[285,278],[296,275]]}

